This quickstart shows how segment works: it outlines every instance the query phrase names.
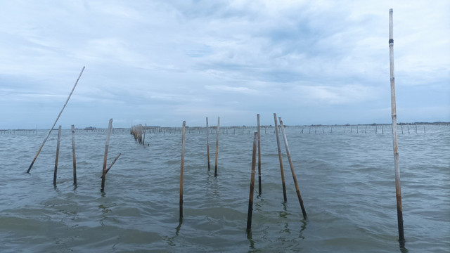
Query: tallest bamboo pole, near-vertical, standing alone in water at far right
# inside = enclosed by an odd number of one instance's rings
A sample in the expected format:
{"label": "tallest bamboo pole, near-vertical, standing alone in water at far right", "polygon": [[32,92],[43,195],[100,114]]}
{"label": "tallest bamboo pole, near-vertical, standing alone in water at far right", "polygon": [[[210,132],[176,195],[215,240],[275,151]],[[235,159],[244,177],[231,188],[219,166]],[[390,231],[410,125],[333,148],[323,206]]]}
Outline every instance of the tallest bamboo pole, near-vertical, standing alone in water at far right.
{"label": "tallest bamboo pole, near-vertical, standing alone in water at far right", "polygon": [[397,223],[399,227],[399,242],[405,242],[403,231],[403,210],[401,208],[401,187],[400,187],[400,165],[399,147],[397,136],[397,112],[395,103],[395,78],[394,78],[394,39],[393,39],[392,9],[389,10],[389,58],[390,58],[390,79],[391,79],[391,109],[392,109],[392,143],[394,146],[394,169],[395,169],[395,195],[397,197]]}

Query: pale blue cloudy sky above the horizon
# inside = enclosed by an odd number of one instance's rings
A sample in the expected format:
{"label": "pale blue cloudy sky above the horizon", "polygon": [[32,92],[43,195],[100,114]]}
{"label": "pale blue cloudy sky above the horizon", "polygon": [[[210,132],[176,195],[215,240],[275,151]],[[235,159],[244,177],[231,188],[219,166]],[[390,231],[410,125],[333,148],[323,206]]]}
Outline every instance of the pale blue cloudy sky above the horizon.
{"label": "pale blue cloudy sky above the horizon", "polygon": [[450,1],[0,0],[0,129],[450,122]]}

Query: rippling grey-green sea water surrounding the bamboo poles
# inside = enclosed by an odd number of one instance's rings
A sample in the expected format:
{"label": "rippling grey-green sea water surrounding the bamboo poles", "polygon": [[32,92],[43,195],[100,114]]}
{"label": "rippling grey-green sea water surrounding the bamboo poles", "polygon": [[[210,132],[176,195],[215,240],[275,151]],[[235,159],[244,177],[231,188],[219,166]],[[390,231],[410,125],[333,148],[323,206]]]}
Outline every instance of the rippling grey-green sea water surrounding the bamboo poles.
{"label": "rippling grey-green sea water surrounding the bamboo poles", "polygon": [[77,186],[70,130],[61,137],[56,186],[57,131],[30,174],[47,132],[7,131],[0,134],[0,251],[450,252],[450,126],[399,129],[405,248],[397,241],[392,135],[384,127],[383,133],[375,126],[286,129],[306,221],[282,136],[287,202],[274,129],[263,128],[262,195],[255,193],[249,234],[255,129],[221,129],[217,177],[215,130],[209,134],[210,171],[205,129],[186,131],[181,223],[180,131],[147,133],[146,146],[127,130],[113,131],[108,164],[122,155],[106,176],[104,193],[104,130],[75,134]]}

